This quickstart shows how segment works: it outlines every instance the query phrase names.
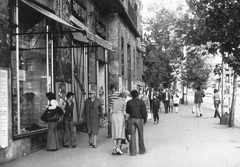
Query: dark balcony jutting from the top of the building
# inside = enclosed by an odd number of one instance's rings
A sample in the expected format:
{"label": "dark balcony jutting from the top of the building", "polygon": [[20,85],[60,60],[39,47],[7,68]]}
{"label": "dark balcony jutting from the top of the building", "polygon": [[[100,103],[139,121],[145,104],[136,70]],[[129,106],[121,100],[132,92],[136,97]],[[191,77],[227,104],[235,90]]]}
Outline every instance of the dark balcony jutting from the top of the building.
{"label": "dark balcony jutting from the top of the building", "polygon": [[129,25],[136,37],[141,37],[138,31],[137,13],[135,12],[132,4],[127,0],[127,7],[124,6],[123,0],[93,0],[93,3],[98,7],[100,12],[104,15],[110,13],[118,13]]}

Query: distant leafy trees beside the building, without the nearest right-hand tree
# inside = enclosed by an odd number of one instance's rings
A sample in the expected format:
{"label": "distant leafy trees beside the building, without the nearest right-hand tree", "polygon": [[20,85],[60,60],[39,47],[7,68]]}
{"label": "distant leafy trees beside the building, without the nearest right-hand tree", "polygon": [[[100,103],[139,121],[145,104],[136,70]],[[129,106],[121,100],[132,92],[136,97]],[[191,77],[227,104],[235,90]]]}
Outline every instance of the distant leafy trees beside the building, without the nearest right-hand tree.
{"label": "distant leafy trees beside the building, without the nearest right-hand tree", "polygon": [[153,15],[144,22],[147,30],[144,40],[147,52],[151,51],[157,61],[145,61],[146,83],[157,88],[160,84],[175,86],[180,80],[188,87],[205,87],[212,66],[206,61],[207,50],[203,45],[187,44],[186,35],[194,23],[189,11],[182,4],[175,11],[153,4],[149,11]]}

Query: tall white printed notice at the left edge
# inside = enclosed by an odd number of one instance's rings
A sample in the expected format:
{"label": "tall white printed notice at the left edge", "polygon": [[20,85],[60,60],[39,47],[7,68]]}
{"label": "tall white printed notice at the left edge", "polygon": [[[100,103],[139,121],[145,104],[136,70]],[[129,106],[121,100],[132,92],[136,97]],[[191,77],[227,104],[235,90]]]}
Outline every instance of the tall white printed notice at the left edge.
{"label": "tall white printed notice at the left edge", "polygon": [[0,69],[0,148],[8,146],[8,70]]}

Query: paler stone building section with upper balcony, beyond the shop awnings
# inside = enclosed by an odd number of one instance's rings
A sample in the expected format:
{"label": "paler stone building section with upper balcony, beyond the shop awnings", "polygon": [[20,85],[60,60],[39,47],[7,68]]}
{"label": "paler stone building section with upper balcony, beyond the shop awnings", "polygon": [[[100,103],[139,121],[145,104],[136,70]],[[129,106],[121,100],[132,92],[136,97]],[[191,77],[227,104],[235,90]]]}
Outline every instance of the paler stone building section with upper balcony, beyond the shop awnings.
{"label": "paler stone building section with upper balcony, beyond the shop awnings", "polygon": [[96,0],[108,20],[109,42],[113,48],[108,57],[109,86],[119,92],[140,89],[145,84],[143,75],[143,49],[140,0]]}

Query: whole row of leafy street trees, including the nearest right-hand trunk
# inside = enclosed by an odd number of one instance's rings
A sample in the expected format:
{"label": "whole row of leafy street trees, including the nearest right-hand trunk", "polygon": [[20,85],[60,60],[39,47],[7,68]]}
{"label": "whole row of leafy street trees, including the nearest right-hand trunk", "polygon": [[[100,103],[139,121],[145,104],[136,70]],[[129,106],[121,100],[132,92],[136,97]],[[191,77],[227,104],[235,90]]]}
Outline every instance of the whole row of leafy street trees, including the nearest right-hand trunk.
{"label": "whole row of leafy street trees, including the nearest right-hand trunk", "polygon": [[[148,49],[156,43],[157,57],[161,63],[146,64],[147,81],[154,83],[172,82],[174,71],[179,71],[187,85],[203,85],[213,70],[206,63],[209,54],[221,54],[223,61],[234,71],[233,95],[230,111],[230,124],[234,126],[237,76],[240,74],[240,2],[238,0],[186,0],[189,7],[183,10],[179,5],[175,12],[156,5],[155,15],[145,22],[148,33],[145,42]],[[154,9],[154,10],[153,10]],[[182,48],[186,46],[187,55]],[[165,52],[163,52],[165,48]],[[174,65],[173,65],[174,64]],[[159,78],[151,76],[158,71]],[[157,72],[155,72],[157,73]],[[176,75],[175,75],[176,76]],[[159,80],[160,79],[160,80]]]}

